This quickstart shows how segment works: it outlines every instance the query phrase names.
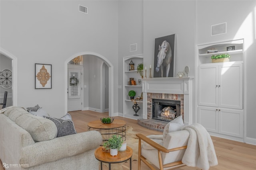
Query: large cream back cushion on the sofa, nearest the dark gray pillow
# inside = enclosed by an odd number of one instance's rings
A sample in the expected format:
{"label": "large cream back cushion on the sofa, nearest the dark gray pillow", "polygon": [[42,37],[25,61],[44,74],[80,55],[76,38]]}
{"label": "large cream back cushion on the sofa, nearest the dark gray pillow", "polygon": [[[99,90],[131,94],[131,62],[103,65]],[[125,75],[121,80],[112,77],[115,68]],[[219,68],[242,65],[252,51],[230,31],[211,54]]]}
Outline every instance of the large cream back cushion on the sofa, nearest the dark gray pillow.
{"label": "large cream back cushion on the sofa, nearest the dark gray pillow", "polygon": [[48,141],[57,136],[56,125],[40,116],[24,114],[18,117],[15,123],[28,131],[34,141]]}

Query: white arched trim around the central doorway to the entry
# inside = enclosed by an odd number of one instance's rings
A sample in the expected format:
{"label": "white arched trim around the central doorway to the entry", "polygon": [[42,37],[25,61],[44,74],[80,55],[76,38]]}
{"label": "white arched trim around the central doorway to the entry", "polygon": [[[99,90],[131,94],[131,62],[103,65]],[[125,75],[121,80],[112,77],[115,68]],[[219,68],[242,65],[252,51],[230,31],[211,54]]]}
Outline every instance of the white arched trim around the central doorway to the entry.
{"label": "white arched trim around the central doorway to the entry", "polygon": [[[75,55],[72,55],[70,58],[68,58],[65,61],[65,90],[68,89],[68,63],[70,62],[70,60],[74,59],[77,56],[80,55],[93,55],[95,57],[98,57],[100,60],[102,60],[105,64],[106,67],[108,67],[108,111],[109,111],[109,116],[114,116],[114,89],[113,89],[113,77],[114,77],[114,72],[113,72],[113,65],[112,63],[110,63],[110,61],[108,61],[108,59],[106,59],[106,57],[98,54],[98,53],[94,53],[94,52],[82,52],[82,53],[77,53]],[[68,94],[65,91],[65,112],[68,111]]]}

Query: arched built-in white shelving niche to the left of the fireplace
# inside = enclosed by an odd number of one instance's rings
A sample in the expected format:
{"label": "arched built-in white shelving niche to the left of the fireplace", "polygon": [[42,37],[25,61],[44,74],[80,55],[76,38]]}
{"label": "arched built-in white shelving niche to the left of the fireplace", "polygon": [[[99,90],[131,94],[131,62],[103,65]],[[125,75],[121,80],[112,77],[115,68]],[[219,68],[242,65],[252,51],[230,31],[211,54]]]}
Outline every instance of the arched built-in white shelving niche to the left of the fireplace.
{"label": "arched built-in white shelving niche to the left of the fireplace", "polygon": [[[131,61],[134,63],[135,70],[129,70],[129,63]],[[132,108],[132,106],[134,106],[134,102],[132,102],[130,100],[130,97],[128,96],[128,92],[130,90],[134,90],[136,92],[136,96],[134,96],[134,98],[140,97],[142,94],[142,78],[140,74],[137,73],[136,70],[138,64],[140,63],[143,63],[143,55],[135,55],[123,58],[123,114],[120,116],[127,117],[130,119],[142,119],[143,114],[143,101],[136,101],[140,109],[137,112],[138,116],[135,116],[135,112]],[[130,78],[133,78],[135,80],[136,85],[129,85]]]}

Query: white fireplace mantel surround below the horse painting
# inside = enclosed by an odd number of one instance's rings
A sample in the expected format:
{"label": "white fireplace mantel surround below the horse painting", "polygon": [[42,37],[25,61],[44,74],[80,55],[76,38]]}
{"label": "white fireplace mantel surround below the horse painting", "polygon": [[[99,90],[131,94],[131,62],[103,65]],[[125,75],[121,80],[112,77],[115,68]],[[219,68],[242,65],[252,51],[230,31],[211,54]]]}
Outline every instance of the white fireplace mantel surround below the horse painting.
{"label": "white fireplace mantel surround below the horse painting", "polygon": [[147,93],[184,94],[184,123],[192,124],[192,80],[194,77],[142,79],[143,119],[147,119]]}

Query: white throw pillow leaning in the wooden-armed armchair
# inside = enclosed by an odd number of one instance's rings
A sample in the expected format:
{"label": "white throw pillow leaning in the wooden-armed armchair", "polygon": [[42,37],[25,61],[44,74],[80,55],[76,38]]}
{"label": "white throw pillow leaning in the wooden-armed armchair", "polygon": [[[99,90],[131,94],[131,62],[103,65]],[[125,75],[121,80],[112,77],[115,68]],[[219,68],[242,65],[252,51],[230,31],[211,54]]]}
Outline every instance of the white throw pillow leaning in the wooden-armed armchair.
{"label": "white throw pillow leaning in the wooden-armed armchair", "polygon": [[163,132],[163,141],[166,139],[166,136],[168,133],[173,132],[173,131],[180,131],[181,128],[184,127],[182,115],[177,117],[176,119],[170,121],[167,123],[164,127],[164,132]]}

